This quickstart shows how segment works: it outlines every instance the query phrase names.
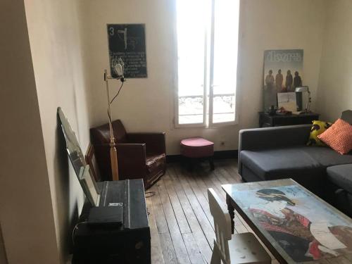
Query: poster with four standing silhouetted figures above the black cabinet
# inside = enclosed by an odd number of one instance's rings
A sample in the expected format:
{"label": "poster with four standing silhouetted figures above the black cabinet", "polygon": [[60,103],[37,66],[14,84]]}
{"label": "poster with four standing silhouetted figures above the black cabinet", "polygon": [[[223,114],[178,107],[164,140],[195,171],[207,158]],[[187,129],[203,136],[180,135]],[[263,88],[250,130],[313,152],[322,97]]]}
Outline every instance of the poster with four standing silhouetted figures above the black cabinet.
{"label": "poster with four standing silhouetted figures above the black cabinet", "polygon": [[277,93],[294,92],[301,87],[303,49],[264,51],[264,110],[277,106]]}

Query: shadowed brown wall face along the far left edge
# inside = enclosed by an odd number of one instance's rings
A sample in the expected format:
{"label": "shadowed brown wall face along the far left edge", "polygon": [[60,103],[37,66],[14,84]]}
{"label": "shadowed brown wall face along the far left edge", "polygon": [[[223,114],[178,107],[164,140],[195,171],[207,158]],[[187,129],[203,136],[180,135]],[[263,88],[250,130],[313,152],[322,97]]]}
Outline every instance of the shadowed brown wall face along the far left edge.
{"label": "shadowed brown wall face along the far left edge", "polygon": [[59,263],[23,1],[0,1],[0,223],[9,264]]}

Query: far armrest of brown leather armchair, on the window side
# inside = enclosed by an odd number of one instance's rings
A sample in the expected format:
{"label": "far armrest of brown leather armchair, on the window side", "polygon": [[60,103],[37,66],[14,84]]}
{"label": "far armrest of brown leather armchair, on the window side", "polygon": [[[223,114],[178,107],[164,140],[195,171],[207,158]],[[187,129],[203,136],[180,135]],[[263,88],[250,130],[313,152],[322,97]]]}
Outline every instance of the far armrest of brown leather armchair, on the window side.
{"label": "far armrest of brown leather armchair, on the window side", "polygon": [[165,132],[127,133],[128,142],[145,143],[147,153],[165,153]]}

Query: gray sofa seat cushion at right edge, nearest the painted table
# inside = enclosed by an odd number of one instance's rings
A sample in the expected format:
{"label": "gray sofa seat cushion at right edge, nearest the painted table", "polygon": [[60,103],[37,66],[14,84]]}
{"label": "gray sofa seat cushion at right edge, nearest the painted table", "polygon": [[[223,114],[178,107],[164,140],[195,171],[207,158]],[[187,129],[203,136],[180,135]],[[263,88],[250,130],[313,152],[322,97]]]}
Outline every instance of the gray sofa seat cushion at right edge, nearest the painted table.
{"label": "gray sofa seat cushion at right edge, nearest the painted table", "polygon": [[327,168],[327,178],[338,187],[352,194],[352,164]]}

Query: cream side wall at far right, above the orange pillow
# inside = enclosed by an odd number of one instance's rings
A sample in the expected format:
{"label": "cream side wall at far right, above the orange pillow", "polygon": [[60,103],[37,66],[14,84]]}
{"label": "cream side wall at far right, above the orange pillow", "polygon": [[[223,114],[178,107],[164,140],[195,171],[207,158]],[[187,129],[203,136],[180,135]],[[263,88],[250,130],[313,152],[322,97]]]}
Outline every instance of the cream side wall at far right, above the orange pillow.
{"label": "cream side wall at far right, above the orange pillow", "polygon": [[352,1],[328,1],[319,78],[318,111],[334,122],[352,109]]}

